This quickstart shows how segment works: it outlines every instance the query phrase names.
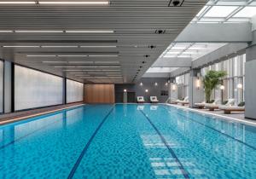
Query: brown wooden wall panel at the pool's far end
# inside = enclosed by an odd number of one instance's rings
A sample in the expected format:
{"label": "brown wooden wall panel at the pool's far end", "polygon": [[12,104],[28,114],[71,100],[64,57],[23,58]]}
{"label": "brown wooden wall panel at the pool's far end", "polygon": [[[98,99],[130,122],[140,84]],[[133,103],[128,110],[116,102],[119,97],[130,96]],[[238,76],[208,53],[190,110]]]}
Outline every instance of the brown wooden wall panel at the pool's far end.
{"label": "brown wooden wall panel at the pool's far end", "polygon": [[114,103],[113,84],[85,84],[85,103]]}

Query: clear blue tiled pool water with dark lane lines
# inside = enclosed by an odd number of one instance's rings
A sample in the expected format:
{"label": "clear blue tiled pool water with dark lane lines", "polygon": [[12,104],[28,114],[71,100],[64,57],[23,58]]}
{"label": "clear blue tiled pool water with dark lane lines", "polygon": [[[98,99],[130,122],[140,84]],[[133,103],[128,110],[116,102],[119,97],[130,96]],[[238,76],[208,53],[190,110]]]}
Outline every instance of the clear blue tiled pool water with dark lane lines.
{"label": "clear blue tiled pool water with dark lane lines", "polygon": [[87,105],[0,126],[0,178],[256,178],[256,128],[166,105]]}

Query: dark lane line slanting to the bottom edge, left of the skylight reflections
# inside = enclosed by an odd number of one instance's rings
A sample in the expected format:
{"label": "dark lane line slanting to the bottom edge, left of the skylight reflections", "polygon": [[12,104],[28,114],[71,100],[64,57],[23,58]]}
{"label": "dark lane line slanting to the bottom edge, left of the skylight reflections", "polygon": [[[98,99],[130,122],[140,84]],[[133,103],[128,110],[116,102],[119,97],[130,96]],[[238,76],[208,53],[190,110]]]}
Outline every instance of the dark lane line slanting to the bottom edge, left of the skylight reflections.
{"label": "dark lane line slanting to the bottom edge, left of the skylight reflections", "polygon": [[90,136],[90,140],[86,143],[86,146],[84,147],[83,151],[80,153],[79,155],[79,159],[77,159],[75,165],[73,165],[72,170],[70,171],[69,175],[67,176],[68,179],[73,178],[74,173],[76,172],[76,170],[78,169],[80,162],[82,161],[84,154],[87,152],[88,148],[90,147],[90,143],[91,141],[94,139],[94,137],[96,136],[97,132],[101,129],[102,124],[107,120],[108,116],[110,115],[110,113],[113,112],[113,107],[112,109],[108,112],[108,114],[102,119],[101,124],[99,124],[99,126],[96,128],[96,130],[94,131],[94,133],[92,134],[92,136]]}

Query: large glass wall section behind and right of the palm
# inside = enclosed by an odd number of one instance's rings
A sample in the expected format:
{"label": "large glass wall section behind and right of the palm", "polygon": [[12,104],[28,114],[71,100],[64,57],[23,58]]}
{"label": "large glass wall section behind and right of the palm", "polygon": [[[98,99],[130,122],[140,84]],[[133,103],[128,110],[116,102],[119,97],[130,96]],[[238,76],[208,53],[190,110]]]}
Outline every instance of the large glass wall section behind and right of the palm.
{"label": "large glass wall section behind and right of the palm", "polygon": [[226,61],[215,63],[201,69],[201,75],[204,76],[209,70],[224,70],[227,76],[224,78],[224,90],[219,88],[214,90],[212,98],[221,99],[223,95],[224,100],[234,98],[238,104],[244,101],[244,77],[245,77],[245,62],[246,55],[237,55]]}

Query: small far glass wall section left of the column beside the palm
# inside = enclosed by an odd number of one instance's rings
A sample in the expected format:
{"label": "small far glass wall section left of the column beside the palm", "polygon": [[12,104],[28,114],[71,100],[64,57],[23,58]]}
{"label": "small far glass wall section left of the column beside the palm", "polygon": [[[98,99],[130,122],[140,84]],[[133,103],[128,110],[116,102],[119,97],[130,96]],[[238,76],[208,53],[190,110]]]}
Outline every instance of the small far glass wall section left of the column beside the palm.
{"label": "small far glass wall section left of the column beside the palm", "polygon": [[181,76],[175,78],[177,84],[178,99],[182,99],[186,96],[189,96],[189,73],[185,73]]}

